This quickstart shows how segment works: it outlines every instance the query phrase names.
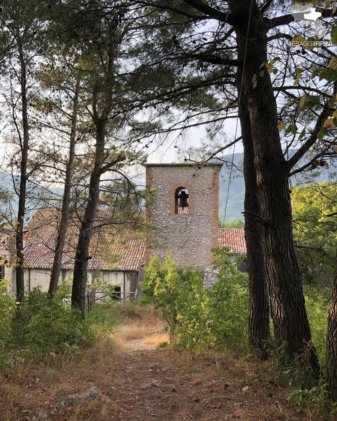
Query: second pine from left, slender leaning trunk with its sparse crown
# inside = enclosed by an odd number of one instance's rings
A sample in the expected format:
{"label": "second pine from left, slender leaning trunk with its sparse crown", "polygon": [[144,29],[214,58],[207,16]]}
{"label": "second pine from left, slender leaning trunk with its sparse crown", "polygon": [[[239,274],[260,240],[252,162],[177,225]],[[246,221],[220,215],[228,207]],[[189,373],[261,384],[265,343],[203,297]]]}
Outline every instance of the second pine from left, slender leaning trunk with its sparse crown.
{"label": "second pine from left, slender leaning trunk with its sparse crown", "polygon": [[[71,56],[71,58],[70,58]],[[43,118],[41,123],[47,130],[53,130],[59,133],[62,141],[68,141],[69,152],[65,163],[53,164],[53,171],[56,174],[61,165],[64,170],[61,171],[64,178],[64,189],[62,194],[61,218],[57,230],[55,240],[55,253],[53,258],[53,266],[51,269],[51,277],[49,282],[48,293],[52,297],[55,293],[59,281],[59,274],[62,265],[62,255],[67,232],[67,226],[70,221],[70,205],[72,201],[71,190],[73,187],[72,178],[75,163],[75,148],[79,143],[79,139],[86,132],[86,126],[81,127],[78,133],[78,115],[83,112],[79,108],[83,108],[83,104],[79,104],[81,90],[81,71],[78,69],[78,54],[76,51],[69,51],[67,56],[60,56],[50,52],[49,57],[45,58],[41,71],[38,73],[40,84],[43,84],[45,97],[37,101],[37,107],[40,113],[44,115],[52,115],[53,118]],[[53,97],[51,91],[56,90],[58,95]],[[83,126],[83,123],[82,123]],[[67,139],[68,138],[68,139]],[[67,146],[68,146],[67,145]],[[55,180],[56,181],[56,180]],[[57,209],[58,211],[59,209]]]}

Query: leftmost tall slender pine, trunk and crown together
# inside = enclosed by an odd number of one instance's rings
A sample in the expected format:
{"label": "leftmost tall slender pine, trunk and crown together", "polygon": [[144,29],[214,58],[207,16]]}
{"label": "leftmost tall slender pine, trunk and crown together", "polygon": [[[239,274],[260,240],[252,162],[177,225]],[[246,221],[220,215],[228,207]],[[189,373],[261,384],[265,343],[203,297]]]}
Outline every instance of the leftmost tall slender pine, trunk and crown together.
{"label": "leftmost tall slender pine, trunk and crown together", "polygon": [[[8,65],[8,95],[12,109],[12,120],[19,143],[19,197],[16,224],[16,298],[24,301],[24,218],[26,206],[26,188],[28,152],[32,142],[29,139],[28,102],[31,98],[32,72],[38,48],[42,47],[41,23],[37,18],[37,9],[29,1],[9,1],[3,5],[1,13],[3,37],[2,48]],[[40,43],[40,45],[39,45]],[[15,183],[14,183],[15,184]]]}

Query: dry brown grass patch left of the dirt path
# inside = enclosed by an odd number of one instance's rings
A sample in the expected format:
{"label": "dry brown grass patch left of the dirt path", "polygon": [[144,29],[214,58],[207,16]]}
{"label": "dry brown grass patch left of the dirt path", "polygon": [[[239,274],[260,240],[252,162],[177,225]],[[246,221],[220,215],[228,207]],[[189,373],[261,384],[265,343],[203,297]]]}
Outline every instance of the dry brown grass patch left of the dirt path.
{"label": "dry brown grass patch left of the dirt path", "polygon": [[[21,367],[17,367],[20,371]],[[116,372],[114,371],[116,368]],[[94,401],[83,403],[67,419],[90,418],[89,407],[99,407],[97,420],[106,418],[111,408],[110,386],[117,375],[115,344],[109,336],[102,337],[93,349],[88,349],[75,359],[57,356],[37,360],[34,365],[22,365],[20,376],[0,376],[0,419],[3,421],[30,420],[40,408],[48,414],[48,420],[60,419],[60,413],[51,413],[52,403],[69,394],[83,392],[93,382],[104,395]],[[106,407],[106,409],[104,409]]]}

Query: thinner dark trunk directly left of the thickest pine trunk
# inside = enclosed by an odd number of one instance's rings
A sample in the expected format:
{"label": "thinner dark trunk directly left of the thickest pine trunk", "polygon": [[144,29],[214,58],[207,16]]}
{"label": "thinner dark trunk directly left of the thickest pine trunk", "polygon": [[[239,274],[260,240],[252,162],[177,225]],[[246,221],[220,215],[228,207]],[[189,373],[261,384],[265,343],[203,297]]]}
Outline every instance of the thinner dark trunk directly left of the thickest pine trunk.
{"label": "thinner dark trunk directly left of the thickest pine trunk", "polygon": [[269,301],[267,274],[263,264],[260,237],[259,191],[254,167],[253,139],[246,100],[240,102],[240,123],[243,136],[243,174],[245,179],[245,237],[249,278],[249,343],[260,360],[268,358],[270,348]]}

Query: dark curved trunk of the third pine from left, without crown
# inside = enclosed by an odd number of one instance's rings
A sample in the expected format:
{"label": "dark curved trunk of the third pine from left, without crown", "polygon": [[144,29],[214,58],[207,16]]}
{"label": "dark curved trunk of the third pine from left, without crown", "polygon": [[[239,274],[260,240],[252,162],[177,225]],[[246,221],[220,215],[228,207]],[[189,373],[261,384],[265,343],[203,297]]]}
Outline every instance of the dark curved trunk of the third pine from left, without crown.
{"label": "dark curved trunk of the third pine from left, without crown", "polygon": [[86,281],[88,261],[90,259],[89,245],[99,200],[99,181],[101,176],[100,171],[104,162],[104,144],[105,123],[104,121],[100,121],[96,123],[94,165],[89,181],[88,202],[80,226],[80,234],[75,254],[74,276],[72,280],[71,305],[72,308],[80,310],[83,319],[85,318]]}

